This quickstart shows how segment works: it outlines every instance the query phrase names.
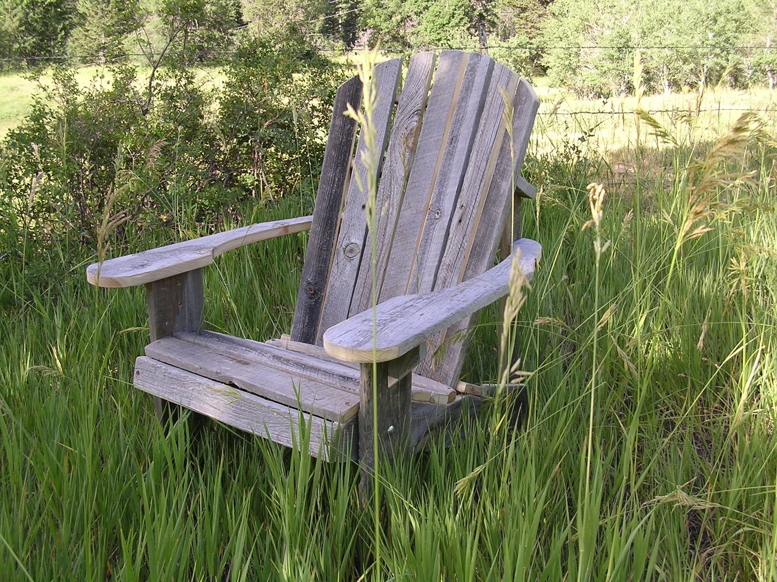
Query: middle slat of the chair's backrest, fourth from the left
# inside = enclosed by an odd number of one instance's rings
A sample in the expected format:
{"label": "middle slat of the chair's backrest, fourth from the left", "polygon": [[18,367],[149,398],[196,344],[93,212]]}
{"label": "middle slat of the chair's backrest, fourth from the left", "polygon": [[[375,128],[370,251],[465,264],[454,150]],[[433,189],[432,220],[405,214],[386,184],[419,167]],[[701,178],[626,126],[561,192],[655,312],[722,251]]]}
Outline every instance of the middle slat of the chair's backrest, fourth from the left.
{"label": "middle slat of the chair's backrest, fourth from the left", "polygon": [[458,91],[467,65],[466,54],[444,50],[440,54],[434,84],[423,116],[413,167],[399,210],[399,225],[394,234],[389,261],[386,263],[380,300],[407,293],[410,265],[416,255],[421,224],[429,208],[429,199],[437,172],[442,164],[444,144],[451,130]]}

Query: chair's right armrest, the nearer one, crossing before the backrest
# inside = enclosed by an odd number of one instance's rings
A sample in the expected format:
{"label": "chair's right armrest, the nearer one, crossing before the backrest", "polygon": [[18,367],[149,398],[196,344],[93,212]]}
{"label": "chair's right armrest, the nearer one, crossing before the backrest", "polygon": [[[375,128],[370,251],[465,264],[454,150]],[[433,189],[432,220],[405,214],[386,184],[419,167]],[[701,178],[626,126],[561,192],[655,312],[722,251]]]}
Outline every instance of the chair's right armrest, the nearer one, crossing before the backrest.
{"label": "chair's right armrest, the nearer one, crossing before the backrest", "polygon": [[[528,238],[513,243],[513,253],[520,252],[518,265],[526,279],[534,276],[542,247]],[[372,345],[372,310],[350,317],[329,327],[324,333],[324,349],[329,355],[346,362],[378,362],[399,358],[430,335],[442,331],[458,320],[476,313],[510,289],[512,257],[496,267],[458,285],[423,295],[393,297],[375,308],[377,350]]]}

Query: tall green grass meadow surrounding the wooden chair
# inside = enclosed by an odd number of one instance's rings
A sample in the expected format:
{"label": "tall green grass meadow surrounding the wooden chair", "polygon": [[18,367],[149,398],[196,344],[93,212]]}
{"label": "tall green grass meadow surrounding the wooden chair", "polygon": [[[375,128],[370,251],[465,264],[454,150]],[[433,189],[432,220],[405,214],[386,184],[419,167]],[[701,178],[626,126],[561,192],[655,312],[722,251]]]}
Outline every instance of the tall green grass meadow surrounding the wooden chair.
{"label": "tall green grass meadow surrounding the wooden chair", "polygon": [[[657,138],[539,92],[522,230],[543,259],[515,291],[524,424],[495,401],[451,446],[383,467],[378,516],[357,466],[304,443],[160,427],[131,387],[143,289],[92,288],[94,256],[64,244],[0,259],[0,580],[777,580],[777,117],[665,113]],[[724,93],[701,109],[772,103]],[[211,232],[187,205],[171,199],[176,230],[129,250]],[[311,210],[312,192],[291,192],[242,216]],[[305,244],[218,258],[207,327],[287,332]],[[497,379],[498,320],[480,318],[466,379]]]}

